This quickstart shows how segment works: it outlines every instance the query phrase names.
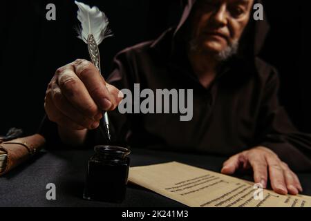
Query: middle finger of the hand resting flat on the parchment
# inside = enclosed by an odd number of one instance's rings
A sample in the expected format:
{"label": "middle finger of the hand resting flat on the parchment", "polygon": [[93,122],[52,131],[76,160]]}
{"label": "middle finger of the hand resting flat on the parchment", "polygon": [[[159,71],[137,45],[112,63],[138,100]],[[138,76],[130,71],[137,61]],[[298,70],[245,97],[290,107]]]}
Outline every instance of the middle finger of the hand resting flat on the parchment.
{"label": "middle finger of the hand resting flat on the parchment", "polygon": [[280,160],[274,155],[266,156],[267,164],[269,166],[270,182],[272,189],[279,194],[288,194],[288,189],[285,181],[285,174],[280,164]]}

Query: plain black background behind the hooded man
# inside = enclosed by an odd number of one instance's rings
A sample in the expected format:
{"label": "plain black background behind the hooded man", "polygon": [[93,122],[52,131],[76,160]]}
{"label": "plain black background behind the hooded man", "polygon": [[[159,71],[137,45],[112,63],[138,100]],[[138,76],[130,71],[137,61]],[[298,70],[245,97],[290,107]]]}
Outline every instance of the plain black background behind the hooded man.
{"label": "plain black background behind the hooded man", "polygon": [[[83,1],[106,12],[115,37],[100,46],[103,72],[111,71],[116,52],[155,39],[178,22],[180,0]],[[261,57],[281,76],[282,104],[294,124],[311,132],[311,90],[308,50],[309,16],[306,1],[265,1],[271,23]],[[56,21],[46,20],[46,5],[55,3]],[[55,70],[77,58],[88,59],[77,39],[77,6],[69,0],[4,1],[1,6],[0,134],[12,126],[35,133],[44,116],[46,86]]]}

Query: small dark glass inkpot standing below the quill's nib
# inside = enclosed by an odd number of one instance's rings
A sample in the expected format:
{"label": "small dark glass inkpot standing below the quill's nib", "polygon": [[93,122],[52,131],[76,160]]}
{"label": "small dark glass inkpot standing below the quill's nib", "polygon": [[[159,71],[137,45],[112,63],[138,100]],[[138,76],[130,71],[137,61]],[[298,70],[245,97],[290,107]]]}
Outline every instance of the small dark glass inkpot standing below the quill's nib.
{"label": "small dark glass inkpot standing below the quill's nib", "polygon": [[95,155],[88,160],[83,198],[102,202],[124,200],[129,177],[131,153],[120,146],[95,146]]}

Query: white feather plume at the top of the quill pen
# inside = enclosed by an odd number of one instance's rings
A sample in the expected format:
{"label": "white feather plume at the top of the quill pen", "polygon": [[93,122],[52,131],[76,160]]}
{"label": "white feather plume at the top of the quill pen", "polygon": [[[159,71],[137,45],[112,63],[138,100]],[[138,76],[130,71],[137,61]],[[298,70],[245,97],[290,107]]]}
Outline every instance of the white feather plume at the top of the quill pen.
{"label": "white feather plume at the top of the quill pen", "polygon": [[79,39],[88,43],[88,35],[93,35],[97,45],[100,45],[104,39],[113,36],[109,30],[109,21],[104,12],[100,11],[96,6],[90,6],[75,1],[79,10],[77,19],[81,22],[81,27],[78,30]]}

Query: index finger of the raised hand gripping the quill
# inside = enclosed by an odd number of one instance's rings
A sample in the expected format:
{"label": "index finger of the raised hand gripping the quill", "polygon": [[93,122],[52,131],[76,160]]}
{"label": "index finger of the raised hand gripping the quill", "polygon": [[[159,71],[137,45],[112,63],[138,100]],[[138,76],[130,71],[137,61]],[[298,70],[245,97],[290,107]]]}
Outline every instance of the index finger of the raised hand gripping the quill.
{"label": "index finger of the raised hand gripping the quill", "polygon": [[117,97],[119,90],[106,84],[100,72],[90,61],[77,59],[72,65],[77,77],[83,82],[101,111],[109,111],[117,107],[120,103]]}

